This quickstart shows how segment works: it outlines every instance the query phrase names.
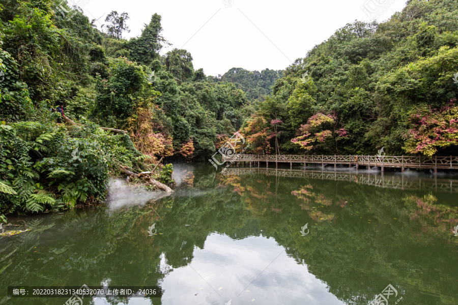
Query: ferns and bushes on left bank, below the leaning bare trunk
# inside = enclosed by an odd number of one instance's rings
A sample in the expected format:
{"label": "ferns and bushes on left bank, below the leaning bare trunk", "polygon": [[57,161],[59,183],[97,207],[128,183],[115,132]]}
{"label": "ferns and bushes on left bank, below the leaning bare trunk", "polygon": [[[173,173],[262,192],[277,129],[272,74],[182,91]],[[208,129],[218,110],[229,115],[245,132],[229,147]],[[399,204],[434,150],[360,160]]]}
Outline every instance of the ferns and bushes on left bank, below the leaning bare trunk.
{"label": "ferns and bushes on left bank, below the leaning bare trunk", "polygon": [[40,121],[0,125],[0,151],[0,182],[13,190],[0,192],[2,214],[104,199],[114,160],[142,159],[126,135]]}

